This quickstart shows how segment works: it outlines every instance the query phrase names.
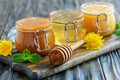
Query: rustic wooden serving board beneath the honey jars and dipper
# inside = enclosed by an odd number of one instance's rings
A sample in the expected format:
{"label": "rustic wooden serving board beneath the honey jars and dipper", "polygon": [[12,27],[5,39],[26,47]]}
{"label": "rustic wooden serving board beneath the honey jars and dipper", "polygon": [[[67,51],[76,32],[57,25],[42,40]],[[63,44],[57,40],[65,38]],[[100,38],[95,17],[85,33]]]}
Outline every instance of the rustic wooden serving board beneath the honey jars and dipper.
{"label": "rustic wooden serving board beneath the honey jars and dipper", "polygon": [[[72,58],[68,62],[58,67],[54,67],[53,65],[50,64],[48,56],[44,57],[43,60],[37,64],[24,63],[21,65],[24,65],[27,68],[31,69],[32,72],[36,72],[38,74],[39,79],[41,79],[59,73],[80,63],[86,62],[92,58],[96,58],[119,47],[120,47],[119,39],[118,40],[113,39],[112,42],[110,40],[107,40],[105,42],[105,46],[103,46],[102,49],[100,50],[86,51],[85,48],[78,48],[77,50],[74,51]],[[20,68],[14,67],[14,70],[23,71],[23,73],[26,74],[27,76],[32,76],[31,74],[29,74],[30,72],[22,66]]]}

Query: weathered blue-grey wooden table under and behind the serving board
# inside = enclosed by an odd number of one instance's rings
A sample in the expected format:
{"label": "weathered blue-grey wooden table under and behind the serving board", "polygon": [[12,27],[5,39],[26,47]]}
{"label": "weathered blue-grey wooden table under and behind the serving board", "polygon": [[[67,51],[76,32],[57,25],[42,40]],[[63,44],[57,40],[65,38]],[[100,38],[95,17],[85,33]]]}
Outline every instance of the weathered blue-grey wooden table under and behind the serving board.
{"label": "weathered blue-grey wooden table under and behind the serving board", "polygon": [[[48,17],[53,10],[79,9],[85,2],[100,0],[0,0],[0,38],[7,39],[10,29],[21,18]],[[115,6],[115,16],[120,20],[120,1],[105,0]],[[9,65],[0,63],[0,80],[29,80]],[[120,80],[120,49],[67,69],[43,80]]]}

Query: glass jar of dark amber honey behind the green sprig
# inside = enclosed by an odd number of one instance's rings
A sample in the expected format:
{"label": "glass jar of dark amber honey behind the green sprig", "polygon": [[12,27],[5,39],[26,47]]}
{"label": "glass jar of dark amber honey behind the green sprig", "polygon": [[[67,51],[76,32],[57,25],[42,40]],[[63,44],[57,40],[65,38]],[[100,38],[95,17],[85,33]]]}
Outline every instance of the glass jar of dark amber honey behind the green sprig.
{"label": "glass jar of dark amber honey behind the green sprig", "polygon": [[16,22],[15,46],[19,52],[24,49],[31,53],[46,55],[54,47],[51,23],[45,18],[25,18]]}

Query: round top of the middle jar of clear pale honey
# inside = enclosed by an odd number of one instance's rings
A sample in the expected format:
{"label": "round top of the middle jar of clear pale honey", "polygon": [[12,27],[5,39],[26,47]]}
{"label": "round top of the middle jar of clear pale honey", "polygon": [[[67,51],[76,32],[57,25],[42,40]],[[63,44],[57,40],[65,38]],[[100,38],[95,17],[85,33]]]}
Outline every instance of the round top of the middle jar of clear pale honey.
{"label": "round top of the middle jar of clear pale honey", "polygon": [[[75,14],[78,16],[74,16]],[[82,18],[82,17],[83,17],[83,13],[78,9],[63,9],[63,10],[56,10],[50,13],[50,19],[52,22],[60,22],[60,23],[65,23],[65,21],[73,22],[74,19]],[[61,21],[56,21],[60,19]],[[62,22],[62,20],[65,20],[65,21]]]}

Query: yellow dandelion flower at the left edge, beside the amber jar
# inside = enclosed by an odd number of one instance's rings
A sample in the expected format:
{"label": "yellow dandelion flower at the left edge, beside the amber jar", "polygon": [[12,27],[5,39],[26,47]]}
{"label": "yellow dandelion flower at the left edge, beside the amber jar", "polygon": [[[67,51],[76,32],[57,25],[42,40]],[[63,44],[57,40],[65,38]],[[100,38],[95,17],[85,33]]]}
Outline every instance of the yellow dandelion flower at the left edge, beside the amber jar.
{"label": "yellow dandelion flower at the left edge, beside the amber jar", "polygon": [[11,51],[13,44],[9,40],[0,40],[0,55],[2,56],[11,56]]}

